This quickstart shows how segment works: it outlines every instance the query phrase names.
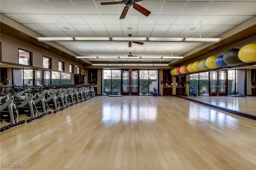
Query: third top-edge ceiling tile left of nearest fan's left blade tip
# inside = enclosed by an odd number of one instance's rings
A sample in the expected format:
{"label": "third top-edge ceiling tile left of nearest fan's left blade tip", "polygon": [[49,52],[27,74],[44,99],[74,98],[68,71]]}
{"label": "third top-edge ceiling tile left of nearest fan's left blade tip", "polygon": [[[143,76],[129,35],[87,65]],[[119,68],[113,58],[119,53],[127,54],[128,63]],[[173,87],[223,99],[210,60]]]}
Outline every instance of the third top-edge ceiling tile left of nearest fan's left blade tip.
{"label": "third top-edge ceiling tile left of nearest fan's left blade tip", "polygon": [[57,11],[46,0],[25,0],[27,4],[32,6],[40,14],[58,14]]}

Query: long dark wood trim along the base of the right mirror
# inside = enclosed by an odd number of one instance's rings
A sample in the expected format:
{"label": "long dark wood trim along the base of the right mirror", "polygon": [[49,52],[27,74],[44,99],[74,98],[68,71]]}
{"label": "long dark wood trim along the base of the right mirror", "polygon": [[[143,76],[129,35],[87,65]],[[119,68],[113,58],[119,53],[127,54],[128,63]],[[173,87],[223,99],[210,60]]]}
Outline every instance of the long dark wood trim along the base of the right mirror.
{"label": "long dark wood trim along the base of the right mirror", "polygon": [[186,98],[186,97],[183,97],[183,96],[178,96],[178,95],[176,95],[176,96],[179,97],[179,98],[190,100],[192,102],[203,104],[205,106],[213,107],[215,109],[220,109],[220,110],[223,110],[223,111],[227,111],[229,113],[234,113],[236,115],[240,115],[240,116],[243,116],[243,117],[247,117],[247,118],[256,120],[256,115],[251,115],[251,114],[248,114],[248,113],[244,113],[244,112],[236,111],[236,110],[231,110],[231,109],[227,109],[227,108],[224,108],[224,107],[214,106],[212,104],[204,103],[204,102],[201,102],[201,101],[198,101],[198,100],[194,100],[194,99],[191,99],[191,98]]}

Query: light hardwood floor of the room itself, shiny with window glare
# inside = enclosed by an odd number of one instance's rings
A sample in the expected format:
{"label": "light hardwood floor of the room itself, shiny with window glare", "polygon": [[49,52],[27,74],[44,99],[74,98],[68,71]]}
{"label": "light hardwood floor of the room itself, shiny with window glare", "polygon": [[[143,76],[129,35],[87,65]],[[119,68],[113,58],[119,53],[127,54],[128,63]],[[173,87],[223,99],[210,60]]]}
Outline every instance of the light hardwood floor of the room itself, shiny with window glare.
{"label": "light hardwood floor of the room itself, shiny with window glare", "polygon": [[0,137],[1,170],[256,169],[255,120],[174,96],[96,96]]}

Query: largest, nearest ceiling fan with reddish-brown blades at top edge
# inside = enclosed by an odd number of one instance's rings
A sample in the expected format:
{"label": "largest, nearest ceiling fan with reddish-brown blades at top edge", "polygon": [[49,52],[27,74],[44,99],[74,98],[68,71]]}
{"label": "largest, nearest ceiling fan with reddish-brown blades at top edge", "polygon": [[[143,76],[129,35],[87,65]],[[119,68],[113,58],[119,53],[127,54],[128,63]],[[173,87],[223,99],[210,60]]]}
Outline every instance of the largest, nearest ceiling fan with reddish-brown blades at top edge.
{"label": "largest, nearest ceiling fan with reddish-brown blades at top edge", "polygon": [[143,0],[122,0],[122,1],[116,1],[116,2],[100,2],[100,4],[102,5],[113,5],[113,4],[125,4],[126,6],[124,7],[124,10],[120,16],[119,19],[124,19],[128,9],[132,6],[135,10],[137,10],[138,12],[140,12],[141,14],[143,14],[144,16],[148,16],[151,12],[145,8],[143,8],[142,6],[140,6],[139,4],[136,4],[136,2],[140,2]]}

